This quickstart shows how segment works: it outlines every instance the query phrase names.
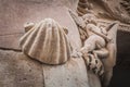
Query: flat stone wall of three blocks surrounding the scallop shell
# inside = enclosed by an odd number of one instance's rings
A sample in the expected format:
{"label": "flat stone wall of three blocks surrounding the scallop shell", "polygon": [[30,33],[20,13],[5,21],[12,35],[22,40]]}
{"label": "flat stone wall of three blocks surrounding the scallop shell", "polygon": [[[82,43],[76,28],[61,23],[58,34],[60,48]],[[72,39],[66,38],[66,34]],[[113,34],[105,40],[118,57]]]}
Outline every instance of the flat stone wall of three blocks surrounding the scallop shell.
{"label": "flat stone wall of three blocks surrounding the scallop shell", "polygon": [[[0,0],[0,11],[2,12],[0,13],[0,38],[2,39],[0,46],[3,48],[17,49],[17,39],[20,37],[16,35],[24,33],[24,23],[36,23],[44,17],[52,17],[68,29],[72,46],[75,49],[79,49],[81,44],[78,29],[66,8],[67,5],[75,9],[74,7],[76,7],[75,3],[77,3],[77,1],[78,0]],[[12,37],[8,35],[12,35]],[[3,37],[6,39],[3,39]],[[6,42],[6,45],[4,45],[4,42]],[[62,82],[63,87],[89,87],[87,70],[82,59],[74,59],[65,65],[57,67],[43,65],[42,71],[40,64],[23,55],[21,52],[0,51],[0,86],[2,87],[43,87],[43,83],[46,83],[44,86],[47,87],[54,87],[54,84],[55,87],[61,87],[60,82]],[[53,72],[52,77],[48,72]],[[43,80],[42,75],[44,75],[46,80]],[[46,77],[50,79],[47,80]],[[51,80],[51,78],[54,78],[54,80]],[[50,84],[51,82],[52,85]]]}

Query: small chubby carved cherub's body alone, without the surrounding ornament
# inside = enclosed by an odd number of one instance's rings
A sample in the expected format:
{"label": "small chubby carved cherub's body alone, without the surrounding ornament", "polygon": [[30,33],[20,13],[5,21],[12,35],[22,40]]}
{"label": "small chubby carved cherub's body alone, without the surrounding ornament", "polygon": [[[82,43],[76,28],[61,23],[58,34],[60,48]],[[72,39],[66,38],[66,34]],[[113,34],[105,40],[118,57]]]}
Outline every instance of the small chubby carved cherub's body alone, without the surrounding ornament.
{"label": "small chubby carved cherub's body alone, without the surrounding ornament", "polygon": [[[82,53],[88,53],[93,51],[94,49],[101,49],[106,46],[105,41],[110,40],[105,34],[102,28],[96,27],[96,18],[92,14],[86,14],[82,16],[87,26],[84,30],[88,34],[87,40],[84,40],[83,47],[81,48]],[[96,34],[95,34],[96,33]],[[99,34],[99,35],[98,35]]]}

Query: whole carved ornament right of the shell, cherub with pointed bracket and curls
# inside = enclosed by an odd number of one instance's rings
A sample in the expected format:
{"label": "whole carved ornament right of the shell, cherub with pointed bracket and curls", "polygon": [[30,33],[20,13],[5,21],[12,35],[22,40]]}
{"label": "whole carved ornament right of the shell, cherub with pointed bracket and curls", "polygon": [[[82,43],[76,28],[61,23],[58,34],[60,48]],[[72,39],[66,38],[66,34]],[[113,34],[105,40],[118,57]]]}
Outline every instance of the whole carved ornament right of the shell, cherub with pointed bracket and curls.
{"label": "whole carved ornament right of the shell, cherub with pointed bracket and curls", "polygon": [[[100,28],[96,25],[98,20],[93,14],[89,13],[79,17],[70,10],[69,13],[72,14],[76,24],[79,26],[79,33],[83,33],[83,35],[81,35],[82,48],[79,52],[81,52],[81,55],[84,58],[84,60],[87,60],[88,65],[91,65],[89,66],[89,69],[94,70],[95,73],[98,73],[99,75],[102,75],[104,72],[102,83],[103,86],[106,87],[110,80],[113,66],[115,65],[115,38],[119,23],[116,21],[106,28]],[[88,57],[91,59],[89,59]],[[101,64],[99,64],[98,62]],[[103,69],[103,66],[105,69]]]}

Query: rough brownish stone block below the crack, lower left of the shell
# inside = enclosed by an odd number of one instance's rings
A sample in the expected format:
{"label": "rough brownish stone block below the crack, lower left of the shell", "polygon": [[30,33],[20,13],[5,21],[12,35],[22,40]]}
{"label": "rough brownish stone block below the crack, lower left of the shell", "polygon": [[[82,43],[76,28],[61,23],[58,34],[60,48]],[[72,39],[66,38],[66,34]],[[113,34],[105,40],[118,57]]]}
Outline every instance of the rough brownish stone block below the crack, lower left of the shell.
{"label": "rough brownish stone block below the crack, lower left of the shell", "polygon": [[0,87],[43,87],[41,65],[22,52],[0,50]]}

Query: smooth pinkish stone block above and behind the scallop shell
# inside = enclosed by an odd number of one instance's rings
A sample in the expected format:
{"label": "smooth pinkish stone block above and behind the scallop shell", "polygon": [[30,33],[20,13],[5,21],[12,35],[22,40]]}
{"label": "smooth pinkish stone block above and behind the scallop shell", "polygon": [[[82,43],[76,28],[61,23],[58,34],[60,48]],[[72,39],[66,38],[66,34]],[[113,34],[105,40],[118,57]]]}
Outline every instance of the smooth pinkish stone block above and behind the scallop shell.
{"label": "smooth pinkish stone block above and behind the scallop shell", "polygon": [[[78,32],[73,20],[70,18],[67,8],[75,9],[78,0],[0,0],[0,39],[10,37],[6,35],[13,35],[9,39],[3,39],[0,42],[0,47],[3,48],[17,48],[18,40],[17,34],[24,33],[24,24],[27,22],[40,22],[46,17],[54,18],[61,25],[70,29],[69,36],[74,47],[79,47]],[[76,35],[73,35],[72,34]],[[76,38],[77,40],[75,40]],[[11,44],[14,41],[15,44]],[[4,42],[6,42],[4,45]]]}

